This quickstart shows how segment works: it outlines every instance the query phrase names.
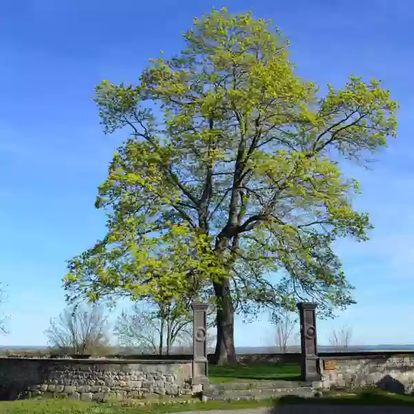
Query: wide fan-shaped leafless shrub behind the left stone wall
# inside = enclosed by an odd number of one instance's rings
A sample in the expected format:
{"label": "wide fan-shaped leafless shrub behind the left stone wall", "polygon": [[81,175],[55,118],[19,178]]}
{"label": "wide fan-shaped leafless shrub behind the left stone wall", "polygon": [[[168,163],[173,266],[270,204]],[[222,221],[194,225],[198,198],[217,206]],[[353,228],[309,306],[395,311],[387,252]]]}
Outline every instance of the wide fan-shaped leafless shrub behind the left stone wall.
{"label": "wide fan-shaped leafless shrub behind the left stone wall", "polygon": [[108,317],[99,305],[68,306],[50,319],[45,332],[50,346],[77,355],[92,353],[109,344]]}

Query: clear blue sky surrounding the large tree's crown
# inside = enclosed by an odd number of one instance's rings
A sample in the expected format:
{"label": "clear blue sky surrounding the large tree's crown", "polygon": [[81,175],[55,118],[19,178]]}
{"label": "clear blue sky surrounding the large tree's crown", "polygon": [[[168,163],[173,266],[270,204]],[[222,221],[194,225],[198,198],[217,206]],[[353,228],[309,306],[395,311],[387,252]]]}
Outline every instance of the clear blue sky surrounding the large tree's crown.
{"label": "clear blue sky surrounding the large tree's crown", "polygon": [[[354,72],[382,79],[402,109],[397,139],[372,172],[355,170],[355,204],[375,224],[366,244],[338,245],[358,304],[318,325],[348,324],[356,344],[414,343],[414,9],[406,0],[20,0],[0,13],[0,281],[10,334],[0,345],[43,345],[64,306],[65,260],[103,235],[97,186],[119,141],[101,132],[90,98],[102,79],[135,82],[159,50],[178,51],[193,17],[215,6],[253,9],[291,41],[300,75],[341,86]],[[379,316],[380,313],[383,315]],[[236,344],[270,342],[264,320],[237,322]]]}

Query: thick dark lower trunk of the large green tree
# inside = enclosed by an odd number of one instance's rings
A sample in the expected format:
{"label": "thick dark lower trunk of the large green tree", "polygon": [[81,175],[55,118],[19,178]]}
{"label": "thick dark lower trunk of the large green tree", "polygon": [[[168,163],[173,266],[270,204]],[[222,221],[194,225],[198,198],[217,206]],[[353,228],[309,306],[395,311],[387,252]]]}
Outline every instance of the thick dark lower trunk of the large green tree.
{"label": "thick dark lower trunk of the large green tree", "polygon": [[234,341],[235,312],[230,296],[230,283],[225,279],[213,285],[218,302],[215,362],[218,365],[237,364]]}

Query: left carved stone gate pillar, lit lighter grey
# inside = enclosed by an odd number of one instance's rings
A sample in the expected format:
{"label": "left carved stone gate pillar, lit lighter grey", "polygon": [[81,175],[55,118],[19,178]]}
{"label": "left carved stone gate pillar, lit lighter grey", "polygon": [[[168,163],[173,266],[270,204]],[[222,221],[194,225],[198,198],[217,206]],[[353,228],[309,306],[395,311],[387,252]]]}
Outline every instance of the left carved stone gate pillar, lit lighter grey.
{"label": "left carved stone gate pillar, lit lighter grey", "polygon": [[193,303],[193,384],[208,382],[207,304]]}

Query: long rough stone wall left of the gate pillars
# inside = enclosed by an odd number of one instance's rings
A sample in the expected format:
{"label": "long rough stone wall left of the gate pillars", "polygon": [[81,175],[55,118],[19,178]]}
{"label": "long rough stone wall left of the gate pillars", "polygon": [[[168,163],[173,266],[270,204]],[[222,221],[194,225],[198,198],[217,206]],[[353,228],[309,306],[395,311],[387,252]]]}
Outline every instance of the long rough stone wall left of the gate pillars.
{"label": "long rough stone wall left of the gate pillars", "polygon": [[121,359],[0,358],[0,399],[74,400],[189,395],[192,363]]}

